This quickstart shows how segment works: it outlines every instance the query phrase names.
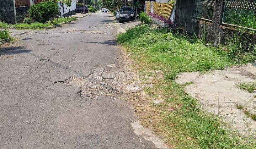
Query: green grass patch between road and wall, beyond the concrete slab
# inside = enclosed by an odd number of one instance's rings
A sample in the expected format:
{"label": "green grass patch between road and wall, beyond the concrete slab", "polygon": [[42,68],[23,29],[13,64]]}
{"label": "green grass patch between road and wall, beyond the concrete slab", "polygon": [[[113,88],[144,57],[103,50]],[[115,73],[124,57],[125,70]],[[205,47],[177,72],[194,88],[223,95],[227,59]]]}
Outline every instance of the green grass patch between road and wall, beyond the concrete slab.
{"label": "green grass patch between road and wall, beyond the concrete slab", "polygon": [[136,53],[134,59],[150,69],[164,71],[167,78],[174,78],[179,72],[223,69],[233,64],[216,48],[175,37],[167,40],[163,33],[145,25],[118,35],[117,41]]}

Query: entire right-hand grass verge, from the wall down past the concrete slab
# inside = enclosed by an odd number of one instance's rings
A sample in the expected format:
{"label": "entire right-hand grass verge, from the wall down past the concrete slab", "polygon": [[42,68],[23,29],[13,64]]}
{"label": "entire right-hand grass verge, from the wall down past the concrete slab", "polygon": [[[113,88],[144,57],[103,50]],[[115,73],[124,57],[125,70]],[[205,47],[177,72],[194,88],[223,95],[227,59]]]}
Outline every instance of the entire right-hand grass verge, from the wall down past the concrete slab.
{"label": "entire right-hand grass verge, from the wall down past the concrete slab", "polygon": [[[166,136],[167,144],[175,148],[256,147],[253,140],[247,138],[245,141],[225,129],[222,117],[204,112],[198,101],[173,80],[179,72],[205,72],[235,64],[226,52],[188,42],[186,37],[167,34],[148,25],[128,29],[117,36],[117,42],[131,53],[140,72],[161,70],[165,76],[157,79],[153,88],[144,88],[144,91],[153,97],[160,94],[165,99],[155,107],[161,120],[150,118],[147,123],[153,123],[150,126]],[[154,117],[152,115],[148,117]]]}

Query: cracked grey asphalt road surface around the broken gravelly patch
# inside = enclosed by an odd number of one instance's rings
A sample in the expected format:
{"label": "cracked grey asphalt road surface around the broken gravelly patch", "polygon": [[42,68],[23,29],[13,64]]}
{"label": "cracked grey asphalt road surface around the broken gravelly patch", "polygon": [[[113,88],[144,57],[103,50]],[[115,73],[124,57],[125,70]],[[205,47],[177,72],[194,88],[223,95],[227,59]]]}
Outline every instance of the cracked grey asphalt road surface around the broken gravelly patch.
{"label": "cracked grey asphalt road surface around the broken gravelly patch", "polygon": [[98,12],[0,47],[0,148],[156,148],[134,132],[125,101],[85,98],[59,83],[97,68],[122,71],[116,30]]}

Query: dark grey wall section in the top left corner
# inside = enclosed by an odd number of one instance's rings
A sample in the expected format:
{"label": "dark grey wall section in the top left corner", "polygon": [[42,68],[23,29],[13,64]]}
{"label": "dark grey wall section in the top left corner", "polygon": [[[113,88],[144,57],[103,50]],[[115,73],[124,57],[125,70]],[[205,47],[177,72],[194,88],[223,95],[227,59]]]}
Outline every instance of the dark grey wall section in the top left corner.
{"label": "dark grey wall section in the top left corner", "polygon": [[0,21],[15,23],[15,7],[13,0],[0,0]]}

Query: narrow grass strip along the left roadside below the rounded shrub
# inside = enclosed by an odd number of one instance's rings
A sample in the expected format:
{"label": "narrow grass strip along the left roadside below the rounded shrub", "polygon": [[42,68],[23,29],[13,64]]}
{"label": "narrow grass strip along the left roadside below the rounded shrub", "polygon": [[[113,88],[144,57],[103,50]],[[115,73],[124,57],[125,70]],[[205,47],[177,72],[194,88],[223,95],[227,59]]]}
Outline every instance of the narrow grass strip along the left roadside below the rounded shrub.
{"label": "narrow grass strip along the left roadside below the rounded shrub", "polygon": [[26,24],[26,23],[17,23],[17,24],[6,24],[6,23],[0,23],[0,27],[2,26],[12,26],[12,27],[50,27],[50,26],[53,26],[55,24],[59,24],[59,23],[62,23],[62,22],[66,22],[66,21],[71,21],[71,20],[76,20],[75,17],[59,17],[58,18],[58,21],[56,20],[56,18],[53,19],[53,23],[51,23],[50,21],[48,21],[47,23],[39,23],[39,22],[35,22],[35,23],[31,23],[31,24]]}

